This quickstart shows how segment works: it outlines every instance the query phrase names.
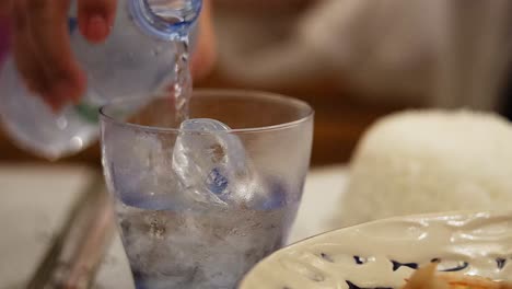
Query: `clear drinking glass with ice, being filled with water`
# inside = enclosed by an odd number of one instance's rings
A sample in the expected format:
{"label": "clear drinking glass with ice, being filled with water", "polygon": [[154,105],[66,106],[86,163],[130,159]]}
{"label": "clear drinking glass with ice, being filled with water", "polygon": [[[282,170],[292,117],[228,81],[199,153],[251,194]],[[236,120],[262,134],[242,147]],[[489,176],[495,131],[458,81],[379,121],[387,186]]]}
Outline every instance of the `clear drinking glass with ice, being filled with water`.
{"label": "clear drinking glass with ice, being filled with water", "polygon": [[306,103],[193,94],[188,125],[166,96],[101,109],[106,183],[138,289],[235,288],[282,246],[301,201],[313,138]]}

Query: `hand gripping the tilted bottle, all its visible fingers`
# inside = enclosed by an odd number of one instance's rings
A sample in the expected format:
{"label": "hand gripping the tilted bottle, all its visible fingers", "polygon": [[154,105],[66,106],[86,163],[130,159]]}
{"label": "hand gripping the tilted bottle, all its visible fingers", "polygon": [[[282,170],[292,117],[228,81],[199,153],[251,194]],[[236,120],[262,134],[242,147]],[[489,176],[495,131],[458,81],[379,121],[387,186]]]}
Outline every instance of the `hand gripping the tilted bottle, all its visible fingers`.
{"label": "hand gripping the tilted bottle, all its visible fingers", "polygon": [[[214,60],[210,3],[205,0],[193,74],[205,76]],[[106,39],[114,25],[117,0],[78,0],[78,24],[91,43]],[[55,111],[78,102],[86,79],[70,47],[69,0],[3,0],[0,16],[11,19],[12,54],[28,89]],[[7,13],[5,13],[7,11]]]}

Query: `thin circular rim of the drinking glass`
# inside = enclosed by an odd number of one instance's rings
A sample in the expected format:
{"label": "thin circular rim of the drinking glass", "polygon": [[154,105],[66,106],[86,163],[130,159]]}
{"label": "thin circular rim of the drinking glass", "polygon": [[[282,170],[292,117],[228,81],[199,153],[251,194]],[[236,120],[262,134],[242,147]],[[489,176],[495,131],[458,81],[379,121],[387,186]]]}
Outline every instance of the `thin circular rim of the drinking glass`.
{"label": "thin circular rim of the drinking glass", "polygon": [[[271,125],[271,126],[259,126],[259,127],[248,127],[248,128],[230,128],[226,130],[222,130],[224,134],[257,134],[257,132],[265,132],[265,131],[275,131],[275,130],[282,130],[287,128],[292,128],[292,127],[298,127],[303,123],[307,123],[310,119],[313,119],[315,115],[315,111],[313,107],[305,101],[294,99],[291,96],[286,96],[279,93],[274,93],[274,92],[265,92],[265,91],[258,91],[258,90],[238,90],[238,89],[194,89],[193,91],[193,97],[194,95],[208,95],[208,94],[214,94],[214,95],[225,95],[225,96],[243,96],[247,97],[248,95],[256,96],[258,99],[266,99],[266,100],[278,100],[278,101],[286,101],[290,103],[293,106],[296,107],[304,107],[306,108],[306,114],[295,120],[282,123],[282,124],[277,124],[277,125]],[[236,96],[236,97],[238,97]],[[151,99],[151,101],[155,101],[159,99],[163,99],[164,96],[155,96]],[[128,103],[128,102],[136,102],[140,101],[140,97],[117,97],[112,100],[110,102],[102,105],[100,107],[100,118],[102,123],[113,123],[118,126],[123,126],[126,128],[132,128],[132,129],[138,129],[138,130],[144,130],[148,132],[158,132],[158,134],[179,134],[179,132],[195,132],[195,129],[181,129],[181,128],[172,128],[172,127],[162,127],[162,126],[147,126],[147,125],[138,125],[133,124],[130,122],[126,120],[120,120],[117,119],[116,117],[108,115],[106,109],[108,107],[113,107],[116,104],[123,104],[123,103]]]}

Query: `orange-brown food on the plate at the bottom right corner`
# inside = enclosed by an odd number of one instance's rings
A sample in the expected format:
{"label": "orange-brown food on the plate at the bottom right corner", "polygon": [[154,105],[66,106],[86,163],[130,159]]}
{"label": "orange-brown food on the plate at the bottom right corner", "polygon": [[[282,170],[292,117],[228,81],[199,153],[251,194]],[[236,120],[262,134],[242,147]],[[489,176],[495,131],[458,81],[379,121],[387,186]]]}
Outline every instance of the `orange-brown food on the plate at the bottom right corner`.
{"label": "orange-brown food on the plate at the bottom right corner", "polygon": [[461,273],[438,273],[437,264],[416,270],[403,289],[512,289],[512,284]]}

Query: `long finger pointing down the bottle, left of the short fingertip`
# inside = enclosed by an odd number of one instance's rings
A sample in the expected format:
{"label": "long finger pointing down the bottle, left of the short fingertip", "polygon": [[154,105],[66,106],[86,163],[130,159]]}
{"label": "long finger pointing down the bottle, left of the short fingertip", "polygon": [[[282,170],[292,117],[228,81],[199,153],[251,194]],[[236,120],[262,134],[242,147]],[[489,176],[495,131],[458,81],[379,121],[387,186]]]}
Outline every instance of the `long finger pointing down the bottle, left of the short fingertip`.
{"label": "long finger pointing down the bottle, left of the short fingertip", "polygon": [[78,101],[85,90],[85,77],[71,51],[68,32],[68,0],[26,0],[28,31],[34,54],[48,81],[46,97],[62,105]]}

